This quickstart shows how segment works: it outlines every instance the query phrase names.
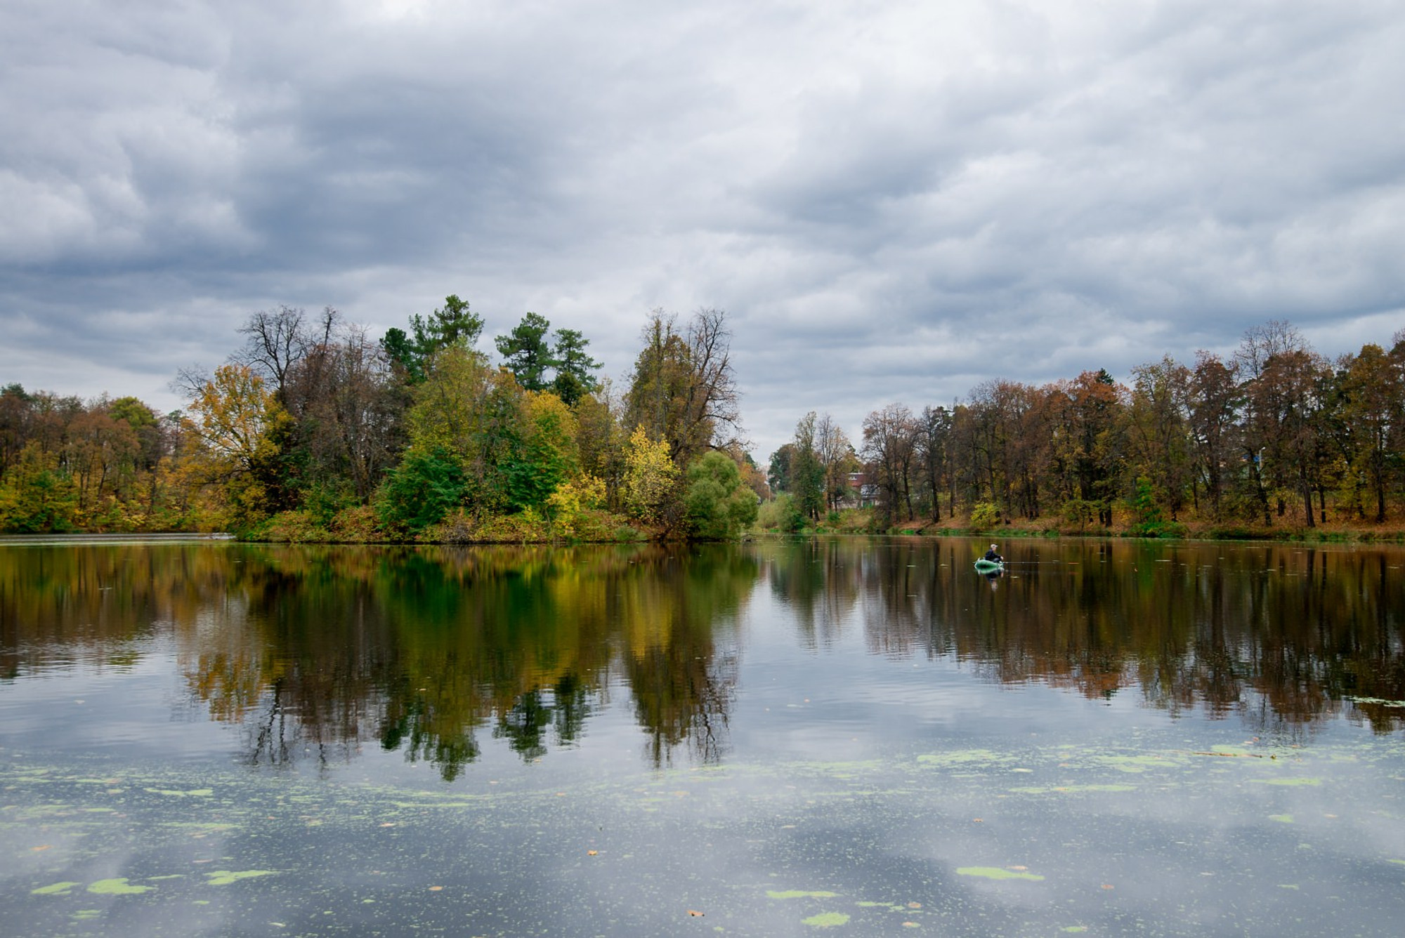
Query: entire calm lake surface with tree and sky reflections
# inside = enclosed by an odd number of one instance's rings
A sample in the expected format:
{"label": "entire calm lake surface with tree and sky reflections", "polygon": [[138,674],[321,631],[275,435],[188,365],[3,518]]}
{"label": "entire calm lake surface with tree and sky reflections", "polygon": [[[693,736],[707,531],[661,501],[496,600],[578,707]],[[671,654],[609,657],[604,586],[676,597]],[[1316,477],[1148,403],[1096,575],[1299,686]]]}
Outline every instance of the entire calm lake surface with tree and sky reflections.
{"label": "entire calm lake surface with tree and sky reflections", "polygon": [[14,935],[1398,935],[1405,550],[0,545]]}

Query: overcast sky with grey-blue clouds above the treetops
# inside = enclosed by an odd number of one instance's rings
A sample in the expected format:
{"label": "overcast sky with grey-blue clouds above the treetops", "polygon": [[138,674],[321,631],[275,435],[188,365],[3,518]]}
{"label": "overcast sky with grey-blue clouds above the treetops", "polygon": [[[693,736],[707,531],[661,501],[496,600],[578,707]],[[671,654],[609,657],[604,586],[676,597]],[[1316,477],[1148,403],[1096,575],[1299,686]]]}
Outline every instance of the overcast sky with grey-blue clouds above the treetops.
{"label": "overcast sky with grey-blue clouds above the treetops", "polygon": [[448,293],[624,379],[710,306],[764,462],[1269,319],[1388,344],[1402,51],[1398,0],[6,0],[0,383],[170,409],[253,310]]}

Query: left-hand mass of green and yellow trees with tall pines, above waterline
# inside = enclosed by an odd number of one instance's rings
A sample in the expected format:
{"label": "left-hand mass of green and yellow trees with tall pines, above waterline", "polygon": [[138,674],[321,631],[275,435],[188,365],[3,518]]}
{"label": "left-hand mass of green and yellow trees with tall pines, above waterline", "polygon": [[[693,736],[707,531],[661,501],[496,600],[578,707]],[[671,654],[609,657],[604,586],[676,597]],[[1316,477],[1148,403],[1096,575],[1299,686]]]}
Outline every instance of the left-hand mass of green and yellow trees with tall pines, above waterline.
{"label": "left-hand mass of green and yellow trees with tall pines, above waterline", "polygon": [[372,338],[337,310],[253,313],[187,404],[0,390],[0,529],[308,541],[735,536],[756,514],[721,310],[653,310],[625,388],[527,313],[478,350],[457,295]]}

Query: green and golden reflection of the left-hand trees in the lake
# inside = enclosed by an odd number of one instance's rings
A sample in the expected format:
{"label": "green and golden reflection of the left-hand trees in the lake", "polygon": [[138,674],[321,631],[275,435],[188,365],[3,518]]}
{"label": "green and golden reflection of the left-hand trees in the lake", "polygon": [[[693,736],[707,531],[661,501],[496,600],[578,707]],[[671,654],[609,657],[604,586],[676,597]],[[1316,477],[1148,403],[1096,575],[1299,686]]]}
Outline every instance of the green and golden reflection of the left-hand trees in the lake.
{"label": "green and golden reflection of the left-hand trees in the lake", "polygon": [[[101,661],[170,623],[191,699],[243,727],[249,762],[339,761],[375,740],[445,778],[478,758],[482,732],[528,760],[573,743],[614,673],[651,758],[681,744],[718,758],[736,653],[728,642],[719,654],[717,636],[757,577],[753,559],[715,548],[185,545],[41,559],[0,569],[6,611],[24,616],[4,621],[46,623],[42,640],[6,642],[13,671],[81,649]],[[110,602],[104,584],[133,563],[143,576]]]}

